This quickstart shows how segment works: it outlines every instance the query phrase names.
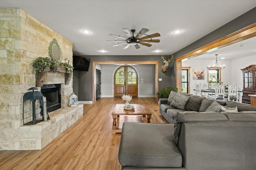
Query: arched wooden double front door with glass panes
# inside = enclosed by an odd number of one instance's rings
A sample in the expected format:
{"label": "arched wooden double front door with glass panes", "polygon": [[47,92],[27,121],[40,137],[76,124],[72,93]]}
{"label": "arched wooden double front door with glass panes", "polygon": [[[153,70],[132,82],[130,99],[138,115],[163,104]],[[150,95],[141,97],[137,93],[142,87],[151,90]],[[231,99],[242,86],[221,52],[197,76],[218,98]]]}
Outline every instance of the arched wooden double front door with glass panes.
{"label": "arched wooden double front door with glass panes", "polygon": [[114,97],[138,97],[138,74],[131,66],[120,66],[114,74]]}

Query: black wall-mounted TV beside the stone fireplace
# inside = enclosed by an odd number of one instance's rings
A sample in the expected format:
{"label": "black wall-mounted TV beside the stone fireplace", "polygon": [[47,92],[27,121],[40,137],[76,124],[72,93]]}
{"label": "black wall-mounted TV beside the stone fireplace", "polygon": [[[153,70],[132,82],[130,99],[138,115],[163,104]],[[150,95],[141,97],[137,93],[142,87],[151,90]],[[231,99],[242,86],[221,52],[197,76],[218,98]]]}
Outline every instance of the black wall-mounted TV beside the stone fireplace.
{"label": "black wall-mounted TV beside the stone fireplace", "polygon": [[73,55],[74,70],[88,71],[91,59]]}

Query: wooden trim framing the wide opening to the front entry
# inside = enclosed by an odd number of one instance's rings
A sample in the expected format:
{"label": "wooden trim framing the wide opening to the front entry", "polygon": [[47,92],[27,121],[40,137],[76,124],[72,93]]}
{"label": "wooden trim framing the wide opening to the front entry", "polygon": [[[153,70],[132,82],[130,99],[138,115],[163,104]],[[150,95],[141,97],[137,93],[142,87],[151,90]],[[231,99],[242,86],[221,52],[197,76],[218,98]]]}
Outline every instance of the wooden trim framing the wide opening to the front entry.
{"label": "wooden trim framing the wide opening to the front entry", "polygon": [[[158,92],[158,63],[159,61],[92,61],[92,104],[95,103],[95,66],[96,64],[155,64],[156,72],[156,93]],[[158,103],[158,95],[155,95],[156,103]]]}

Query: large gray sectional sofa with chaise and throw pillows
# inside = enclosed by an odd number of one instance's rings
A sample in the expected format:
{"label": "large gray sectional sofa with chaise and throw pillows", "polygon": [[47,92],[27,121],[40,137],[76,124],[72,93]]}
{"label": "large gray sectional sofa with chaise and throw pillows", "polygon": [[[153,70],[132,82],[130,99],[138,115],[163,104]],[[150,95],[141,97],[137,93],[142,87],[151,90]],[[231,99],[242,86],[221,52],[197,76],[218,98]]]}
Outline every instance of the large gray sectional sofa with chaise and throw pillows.
{"label": "large gray sectional sofa with chaise and throw pillows", "polygon": [[185,109],[160,101],[161,114],[175,124],[124,122],[118,153],[123,170],[255,169],[256,106],[191,95]]}

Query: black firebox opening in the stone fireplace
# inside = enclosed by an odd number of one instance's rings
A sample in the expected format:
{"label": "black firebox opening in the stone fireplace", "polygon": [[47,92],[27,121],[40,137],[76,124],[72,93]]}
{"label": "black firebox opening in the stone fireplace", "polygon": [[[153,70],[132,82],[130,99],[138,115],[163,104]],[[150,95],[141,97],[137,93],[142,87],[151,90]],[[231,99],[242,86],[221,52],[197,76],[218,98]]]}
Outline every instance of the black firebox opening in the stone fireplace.
{"label": "black firebox opening in the stone fireplace", "polygon": [[46,97],[47,111],[51,112],[61,107],[60,84],[45,84],[41,87],[41,93]]}

